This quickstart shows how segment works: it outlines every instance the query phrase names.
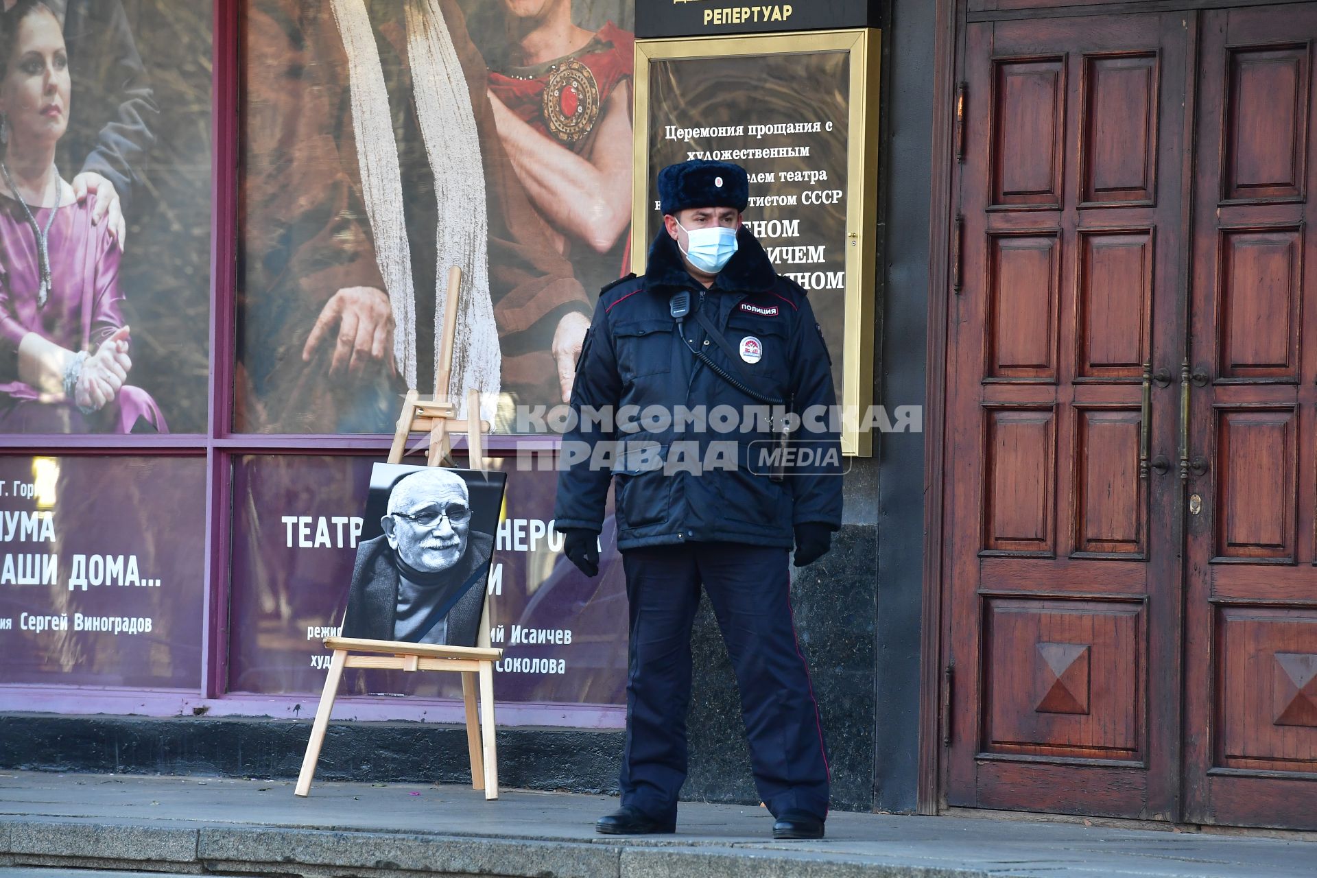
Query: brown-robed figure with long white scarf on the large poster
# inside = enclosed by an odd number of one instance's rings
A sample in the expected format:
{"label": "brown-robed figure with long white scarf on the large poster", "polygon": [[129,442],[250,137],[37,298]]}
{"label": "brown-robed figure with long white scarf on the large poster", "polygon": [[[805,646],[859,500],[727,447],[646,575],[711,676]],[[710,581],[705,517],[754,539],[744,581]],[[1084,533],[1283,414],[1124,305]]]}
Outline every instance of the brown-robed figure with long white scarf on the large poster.
{"label": "brown-robed figure with long white scarf on the large poster", "polygon": [[[589,300],[495,130],[456,0],[261,0],[249,58],[238,421],[383,430],[437,374],[464,267],[453,378],[494,420],[561,399]],[[292,157],[290,159],[290,157]],[[576,316],[576,319],[573,319]],[[327,380],[329,379],[329,380]]]}

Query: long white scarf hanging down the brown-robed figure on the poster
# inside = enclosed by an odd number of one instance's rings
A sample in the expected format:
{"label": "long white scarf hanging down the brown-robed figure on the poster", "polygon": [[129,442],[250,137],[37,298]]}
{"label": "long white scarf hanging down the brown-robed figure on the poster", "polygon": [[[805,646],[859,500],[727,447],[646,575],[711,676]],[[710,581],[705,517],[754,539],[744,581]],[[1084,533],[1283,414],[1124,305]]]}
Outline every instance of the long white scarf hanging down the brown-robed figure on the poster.
{"label": "long white scarf hanging down the brown-robed figure on the poster", "polygon": [[[416,294],[389,90],[366,1],[331,0],[331,4],[348,54],[352,121],[362,195],[375,240],[375,261],[389,287],[396,324],[394,357],[407,386],[416,388]],[[435,230],[435,374],[441,371],[437,359],[448,269],[456,265],[462,269],[462,287],[452,379],[446,390],[462,409],[462,417],[466,417],[466,391],[478,390],[481,416],[493,421],[498,407],[502,354],[490,297],[489,213],[475,111],[439,0],[407,0],[406,13],[416,116],[439,203]]]}

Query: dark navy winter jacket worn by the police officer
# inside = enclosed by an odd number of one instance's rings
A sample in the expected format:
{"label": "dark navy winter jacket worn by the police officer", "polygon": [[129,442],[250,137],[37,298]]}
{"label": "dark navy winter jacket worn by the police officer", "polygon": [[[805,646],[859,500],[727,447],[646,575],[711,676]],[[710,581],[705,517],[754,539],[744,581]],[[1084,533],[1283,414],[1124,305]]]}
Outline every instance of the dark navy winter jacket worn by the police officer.
{"label": "dark navy winter jacket worn by the police officer", "polygon": [[[703,351],[731,376],[748,379],[751,390],[786,400],[795,412],[836,403],[823,333],[805,291],[773,270],[744,226],[738,245],[706,292],[686,271],[676,242],[660,230],[645,275],[605,288],[577,363],[570,404],[578,416],[605,407],[618,415],[612,424],[602,421],[611,430],[599,420],[581,419],[564,434],[558,529],[599,532],[611,479],[619,549],[690,541],[790,548],[797,524],[840,527],[840,442],[831,424],[822,432],[802,428],[793,434],[797,452],[810,448],[824,465],[789,470],[785,480],[773,482],[761,454],[772,448],[772,433],[760,429],[766,424],[752,413],[768,407],[691,354],[691,346]],[[678,324],[669,301],[684,290],[690,292],[691,311],[703,308],[734,349],[757,340],[757,362],[730,362],[719,344],[706,340],[694,313]],[[669,415],[678,407],[687,412],[705,407],[710,417],[705,424],[687,420],[678,430],[677,423],[665,425],[657,409],[652,419],[636,416],[651,405]],[[732,407],[732,432],[718,429],[726,429],[726,421],[714,417],[719,405]],[[586,453],[589,459],[579,459]],[[568,457],[573,454],[577,459]]]}

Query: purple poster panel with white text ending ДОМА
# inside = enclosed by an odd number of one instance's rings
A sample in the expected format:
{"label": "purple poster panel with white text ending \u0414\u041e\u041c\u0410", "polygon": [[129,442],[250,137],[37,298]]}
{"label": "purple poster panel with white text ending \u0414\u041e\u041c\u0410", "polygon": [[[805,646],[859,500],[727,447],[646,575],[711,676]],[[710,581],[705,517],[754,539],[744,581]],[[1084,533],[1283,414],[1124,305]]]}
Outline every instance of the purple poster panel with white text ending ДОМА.
{"label": "purple poster panel with white text ending \u0414\u041e\u041c\u0410", "polygon": [[0,683],[202,684],[205,461],[0,457]]}

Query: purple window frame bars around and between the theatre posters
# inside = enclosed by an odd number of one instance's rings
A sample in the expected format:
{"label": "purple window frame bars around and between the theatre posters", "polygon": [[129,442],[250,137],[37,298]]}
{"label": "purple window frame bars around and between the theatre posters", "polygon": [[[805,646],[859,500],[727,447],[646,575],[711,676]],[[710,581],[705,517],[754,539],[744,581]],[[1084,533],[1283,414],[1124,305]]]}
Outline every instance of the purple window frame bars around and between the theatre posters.
{"label": "purple window frame bars around and between the theatre posters", "polygon": [[[390,434],[287,434],[233,430],[238,257],[242,184],[244,7],[250,0],[212,0],[211,43],[211,276],[209,365],[205,433],[165,436],[0,434],[0,454],[21,457],[187,457],[205,461],[205,563],[203,574],[202,678],[196,688],[140,690],[0,683],[0,712],[145,716],[277,716],[311,719],[319,692],[258,695],[228,692],[229,600],[233,550],[233,466],[244,455],[362,455],[382,459]],[[487,454],[556,450],[557,436],[491,436]],[[465,438],[454,441],[465,448]],[[341,696],[336,716],[361,721],[462,723],[460,700]],[[626,707],[554,702],[500,703],[504,725],[585,729],[622,728]]]}

